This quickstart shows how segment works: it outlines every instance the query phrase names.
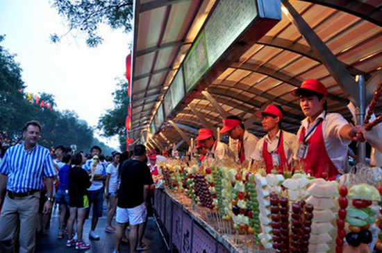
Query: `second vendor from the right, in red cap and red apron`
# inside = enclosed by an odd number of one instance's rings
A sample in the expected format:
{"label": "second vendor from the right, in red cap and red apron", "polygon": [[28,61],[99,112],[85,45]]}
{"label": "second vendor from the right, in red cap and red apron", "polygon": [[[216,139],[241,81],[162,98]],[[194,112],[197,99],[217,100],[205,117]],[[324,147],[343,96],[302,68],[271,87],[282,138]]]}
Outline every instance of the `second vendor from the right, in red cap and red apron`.
{"label": "second vendor from the right, in red cap and red apron", "polygon": [[255,116],[263,119],[263,129],[268,133],[258,141],[251,157],[263,160],[268,174],[274,169],[289,171],[298,139],[295,134],[282,130],[283,110],[276,105],[268,105],[264,111],[256,112]]}

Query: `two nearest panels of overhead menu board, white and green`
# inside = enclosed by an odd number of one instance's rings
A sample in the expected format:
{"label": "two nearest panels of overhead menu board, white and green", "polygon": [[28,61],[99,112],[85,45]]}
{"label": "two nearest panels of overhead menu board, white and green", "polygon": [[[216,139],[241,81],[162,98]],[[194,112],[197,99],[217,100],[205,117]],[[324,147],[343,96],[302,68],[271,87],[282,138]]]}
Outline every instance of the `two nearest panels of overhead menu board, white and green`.
{"label": "two nearest panels of overhead menu board, white and green", "polygon": [[217,3],[183,62],[186,92],[194,87],[257,15],[256,0],[223,0]]}

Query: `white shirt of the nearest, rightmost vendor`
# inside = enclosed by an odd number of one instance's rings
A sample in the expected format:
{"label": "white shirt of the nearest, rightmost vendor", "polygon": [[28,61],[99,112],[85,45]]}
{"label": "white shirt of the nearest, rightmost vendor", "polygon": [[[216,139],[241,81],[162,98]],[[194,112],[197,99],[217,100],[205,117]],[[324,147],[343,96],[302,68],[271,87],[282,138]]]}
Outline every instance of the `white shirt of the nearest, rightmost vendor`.
{"label": "white shirt of the nearest, rightmost vendor", "polygon": [[[319,119],[324,119],[322,121],[322,135],[324,137],[324,143],[326,152],[328,153],[331,162],[333,162],[335,168],[338,169],[340,173],[344,173],[344,170],[348,168],[347,162],[347,146],[351,143],[351,140],[344,139],[340,136],[340,130],[344,125],[349,124],[346,119],[341,114],[338,113],[328,113],[322,111],[321,114],[317,116],[315,121],[310,124],[310,128],[313,128]],[[300,133],[303,128],[305,128],[305,133],[307,134],[310,130],[308,128],[309,121],[308,118],[301,121],[301,127],[299,132],[297,132],[297,137],[300,137]],[[317,128],[308,136],[308,139],[312,137]],[[294,150],[294,155],[297,156],[298,146]],[[318,151],[319,152],[319,151]]]}

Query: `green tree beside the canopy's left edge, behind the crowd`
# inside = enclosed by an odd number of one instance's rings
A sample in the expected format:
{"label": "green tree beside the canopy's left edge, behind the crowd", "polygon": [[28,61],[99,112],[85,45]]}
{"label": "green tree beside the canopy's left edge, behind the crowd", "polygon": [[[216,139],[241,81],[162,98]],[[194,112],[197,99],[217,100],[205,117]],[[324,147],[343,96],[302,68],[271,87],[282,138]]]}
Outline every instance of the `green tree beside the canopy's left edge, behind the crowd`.
{"label": "green tree beside the canopy's left edge, behind the crowd", "polygon": [[127,106],[130,103],[128,98],[128,82],[119,80],[119,87],[113,92],[113,110],[107,110],[106,114],[101,115],[98,122],[98,129],[103,132],[105,137],[118,136],[121,150],[126,150],[126,126]]}

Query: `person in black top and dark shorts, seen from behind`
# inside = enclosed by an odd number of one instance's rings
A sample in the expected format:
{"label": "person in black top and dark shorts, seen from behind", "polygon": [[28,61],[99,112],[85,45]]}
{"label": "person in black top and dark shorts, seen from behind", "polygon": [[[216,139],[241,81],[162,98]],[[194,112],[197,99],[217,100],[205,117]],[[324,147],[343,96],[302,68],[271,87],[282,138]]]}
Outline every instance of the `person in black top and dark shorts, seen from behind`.
{"label": "person in black top and dark shorts, seen from behind", "polygon": [[[69,207],[70,217],[67,220],[67,247],[76,245],[76,250],[90,248],[90,244],[82,241],[83,223],[85,214],[89,208],[88,188],[92,185],[95,173],[90,175],[82,168],[86,162],[83,152],[76,152],[72,157],[72,165],[69,173]],[[77,216],[77,241],[73,238],[73,224]]]}

